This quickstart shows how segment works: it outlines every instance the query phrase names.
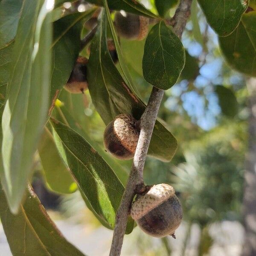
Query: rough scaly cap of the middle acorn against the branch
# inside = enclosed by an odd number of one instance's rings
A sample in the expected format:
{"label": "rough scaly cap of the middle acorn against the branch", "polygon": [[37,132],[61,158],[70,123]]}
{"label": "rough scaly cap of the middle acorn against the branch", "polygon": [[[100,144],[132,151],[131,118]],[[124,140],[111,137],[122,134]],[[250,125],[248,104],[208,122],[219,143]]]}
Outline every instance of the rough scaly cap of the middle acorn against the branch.
{"label": "rough scaly cap of the middle acorn against the branch", "polygon": [[113,131],[120,143],[131,152],[135,152],[140,136],[133,116],[120,114],[113,121]]}

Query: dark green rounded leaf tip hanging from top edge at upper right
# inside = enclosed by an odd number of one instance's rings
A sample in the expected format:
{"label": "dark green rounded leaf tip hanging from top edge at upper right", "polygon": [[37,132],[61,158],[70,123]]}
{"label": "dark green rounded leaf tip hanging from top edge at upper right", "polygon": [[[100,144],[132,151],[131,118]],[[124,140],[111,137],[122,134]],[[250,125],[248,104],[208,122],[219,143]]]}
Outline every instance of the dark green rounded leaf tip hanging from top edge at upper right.
{"label": "dark green rounded leaf tip hanging from top edge at upper right", "polygon": [[209,25],[219,36],[232,33],[247,9],[249,0],[198,0]]}

